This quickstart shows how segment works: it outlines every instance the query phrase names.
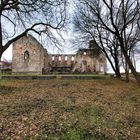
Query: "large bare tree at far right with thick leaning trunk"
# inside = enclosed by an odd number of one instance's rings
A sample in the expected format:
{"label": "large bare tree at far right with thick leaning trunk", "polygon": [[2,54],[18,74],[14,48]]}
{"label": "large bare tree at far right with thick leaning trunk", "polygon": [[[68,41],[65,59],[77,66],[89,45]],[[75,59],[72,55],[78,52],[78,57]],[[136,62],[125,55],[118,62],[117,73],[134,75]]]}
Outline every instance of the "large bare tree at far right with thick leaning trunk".
{"label": "large bare tree at far right with thick leaning trunk", "polygon": [[[115,37],[118,42],[117,47],[120,47],[126,64],[140,83],[140,77],[128,53],[140,41],[139,0],[79,0],[79,5],[85,11],[82,13],[82,18],[86,20],[83,20],[82,25],[84,23],[87,26],[86,29],[90,29],[94,37],[97,37],[94,33],[102,35],[106,32],[110,33],[110,37]],[[101,37],[101,41],[103,39],[104,37]]]}

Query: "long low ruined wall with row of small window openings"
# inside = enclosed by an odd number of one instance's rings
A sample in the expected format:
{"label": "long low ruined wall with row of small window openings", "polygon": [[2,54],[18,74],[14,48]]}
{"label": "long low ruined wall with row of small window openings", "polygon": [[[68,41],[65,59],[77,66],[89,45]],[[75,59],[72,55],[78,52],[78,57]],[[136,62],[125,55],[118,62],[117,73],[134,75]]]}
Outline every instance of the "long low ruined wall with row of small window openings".
{"label": "long low ruined wall with row of small window openings", "polygon": [[106,72],[106,58],[103,54],[97,57],[91,57],[88,54],[49,54],[48,57],[48,72],[52,68],[66,68],[70,67],[70,72],[87,72],[87,73],[105,73]]}

